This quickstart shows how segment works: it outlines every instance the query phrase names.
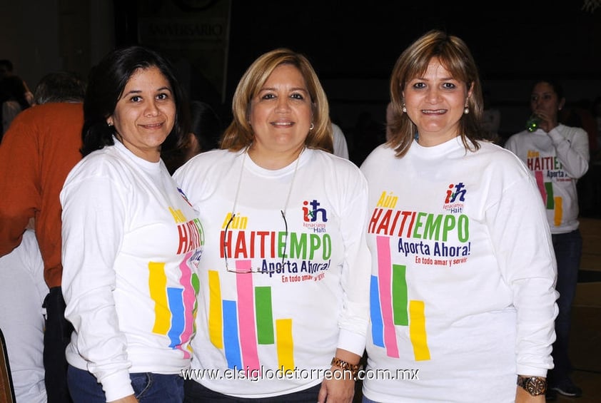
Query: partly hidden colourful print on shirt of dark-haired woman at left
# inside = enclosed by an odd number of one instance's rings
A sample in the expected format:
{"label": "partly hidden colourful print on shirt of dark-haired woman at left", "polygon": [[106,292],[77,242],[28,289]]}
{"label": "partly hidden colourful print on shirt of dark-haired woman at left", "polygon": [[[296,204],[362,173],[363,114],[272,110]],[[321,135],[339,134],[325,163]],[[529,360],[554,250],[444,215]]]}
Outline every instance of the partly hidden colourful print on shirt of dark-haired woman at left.
{"label": "partly hidden colourful print on shirt of dark-haired woman at left", "polygon": [[198,219],[187,220],[181,210],[169,208],[178,228],[177,254],[182,255],[178,266],[179,283],[171,284],[165,262],[148,262],[148,288],[154,301],[155,320],[153,332],[166,335],[169,347],[183,352],[184,358],[191,357],[188,344],[196,332],[194,318],[198,305],[196,296],[200,290],[198,275],[191,265],[198,267],[202,254],[204,235]]}

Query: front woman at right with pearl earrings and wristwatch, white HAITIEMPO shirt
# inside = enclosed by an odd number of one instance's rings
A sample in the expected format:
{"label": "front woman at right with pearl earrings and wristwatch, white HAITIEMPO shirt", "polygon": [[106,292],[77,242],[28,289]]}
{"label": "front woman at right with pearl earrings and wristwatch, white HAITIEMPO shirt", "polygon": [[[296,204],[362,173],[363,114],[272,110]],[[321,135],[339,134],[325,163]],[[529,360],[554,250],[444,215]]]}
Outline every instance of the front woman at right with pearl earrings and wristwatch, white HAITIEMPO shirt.
{"label": "front woman at right with pearl earrings and wristwatch, white HAITIEMPO shirt", "polygon": [[549,225],[529,170],[483,140],[468,46],[426,32],[397,59],[390,96],[391,138],[360,167],[368,370],[382,374],[363,381],[363,402],[545,402],[557,315]]}

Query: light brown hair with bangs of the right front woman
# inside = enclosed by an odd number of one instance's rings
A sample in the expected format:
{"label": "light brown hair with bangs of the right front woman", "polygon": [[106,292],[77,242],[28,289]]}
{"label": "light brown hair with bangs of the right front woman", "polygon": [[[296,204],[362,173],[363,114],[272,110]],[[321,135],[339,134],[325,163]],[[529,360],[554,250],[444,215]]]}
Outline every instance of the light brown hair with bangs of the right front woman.
{"label": "light brown hair with bangs of the right front woman", "polygon": [[[459,136],[465,149],[477,150],[480,148],[478,140],[484,139],[480,129],[484,103],[482,86],[472,53],[465,42],[457,36],[432,30],[401,53],[390,78],[393,116],[388,125],[390,129],[388,145],[395,149],[397,156],[407,153],[417,131],[417,127],[407,113],[403,113],[403,89],[408,81],[425,73],[432,58],[438,58],[453,78],[463,81],[468,90],[472,88],[472,95],[468,98],[470,113],[464,114],[459,122]],[[470,142],[473,147],[470,146]]]}

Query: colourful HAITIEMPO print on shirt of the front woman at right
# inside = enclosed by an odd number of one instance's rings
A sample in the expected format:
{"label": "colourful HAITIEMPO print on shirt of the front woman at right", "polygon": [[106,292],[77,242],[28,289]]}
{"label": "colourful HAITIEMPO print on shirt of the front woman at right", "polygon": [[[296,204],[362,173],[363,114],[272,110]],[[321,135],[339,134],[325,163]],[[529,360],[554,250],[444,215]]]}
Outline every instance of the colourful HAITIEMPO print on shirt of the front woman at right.
{"label": "colourful HAITIEMPO print on shirt of the front woman at right", "polygon": [[470,223],[463,214],[468,189],[452,183],[444,195],[444,214],[397,210],[398,196],[385,191],[372,211],[368,233],[375,235],[377,267],[370,283],[372,340],[388,357],[399,357],[395,327],[403,326],[409,328],[415,360],[430,359],[427,307],[410,298],[407,270],[424,265],[453,270],[470,256]]}

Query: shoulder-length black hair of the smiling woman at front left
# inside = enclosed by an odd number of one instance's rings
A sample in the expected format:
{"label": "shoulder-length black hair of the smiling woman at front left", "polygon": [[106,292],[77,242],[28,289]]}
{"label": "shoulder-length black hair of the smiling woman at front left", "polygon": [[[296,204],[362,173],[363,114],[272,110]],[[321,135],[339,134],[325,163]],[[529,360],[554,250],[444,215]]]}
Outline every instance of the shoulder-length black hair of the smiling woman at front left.
{"label": "shoulder-length black hair of the smiling woman at front left", "polygon": [[158,68],[169,81],[176,104],[173,130],[163,142],[161,151],[181,146],[188,133],[190,115],[186,96],[176,77],[175,69],[171,62],[158,52],[136,45],[111,51],[90,71],[84,98],[82,155],[88,155],[105,146],[113,146],[115,128],[108,126],[106,119],[114,113],[118,99],[133,73],[151,67]]}

